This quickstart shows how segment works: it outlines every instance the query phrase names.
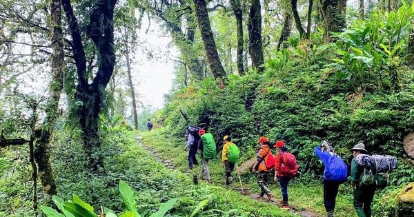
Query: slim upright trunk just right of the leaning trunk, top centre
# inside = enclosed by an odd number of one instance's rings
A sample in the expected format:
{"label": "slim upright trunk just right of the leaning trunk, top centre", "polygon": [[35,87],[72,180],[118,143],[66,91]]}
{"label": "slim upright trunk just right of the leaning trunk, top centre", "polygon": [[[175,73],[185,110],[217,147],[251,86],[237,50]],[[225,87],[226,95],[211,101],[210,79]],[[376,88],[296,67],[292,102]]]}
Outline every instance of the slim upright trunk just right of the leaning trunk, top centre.
{"label": "slim upright trunk just right of the leaning trunk, top centre", "polygon": [[244,75],[243,66],[243,12],[239,0],[230,0],[231,7],[236,17],[236,32],[237,32],[237,71],[239,75]]}

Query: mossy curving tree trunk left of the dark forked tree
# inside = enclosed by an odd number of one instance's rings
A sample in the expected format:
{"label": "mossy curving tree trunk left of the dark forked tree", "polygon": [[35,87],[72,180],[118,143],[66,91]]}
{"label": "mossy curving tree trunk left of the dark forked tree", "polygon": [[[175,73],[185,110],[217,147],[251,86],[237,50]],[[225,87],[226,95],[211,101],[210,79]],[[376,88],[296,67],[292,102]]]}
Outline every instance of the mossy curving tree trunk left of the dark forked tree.
{"label": "mossy curving tree trunk left of the dark forked tree", "polygon": [[49,99],[46,118],[41,125],[41,134],[37,138],[34,156],[37,163],[39,178],[46,197],[56,194],[55,177],[50,163],[50,141],[59,112],[59,100],[63,90],[63,31],[61,21],[61,1],[50,1],[50,25],[52,26],[52,81],[50,82]]}

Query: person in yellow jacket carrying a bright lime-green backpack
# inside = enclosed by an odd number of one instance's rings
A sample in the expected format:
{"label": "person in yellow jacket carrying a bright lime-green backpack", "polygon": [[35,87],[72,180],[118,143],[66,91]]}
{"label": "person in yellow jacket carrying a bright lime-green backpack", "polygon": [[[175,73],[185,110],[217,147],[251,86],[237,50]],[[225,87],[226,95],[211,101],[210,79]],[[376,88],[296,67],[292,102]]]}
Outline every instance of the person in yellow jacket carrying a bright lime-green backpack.
{"label": "person in yellow jacket carrying a bright lime-green backpack", "polygon": [[224,145],[221,152],[221,162],[223,162],[224,170],[226,171],[226,185],[230,185],[233,183],[231,173],[235,169],[235,163],[239,161],[239,148],[231,142],[230,136],[224,136],[223,142]]}

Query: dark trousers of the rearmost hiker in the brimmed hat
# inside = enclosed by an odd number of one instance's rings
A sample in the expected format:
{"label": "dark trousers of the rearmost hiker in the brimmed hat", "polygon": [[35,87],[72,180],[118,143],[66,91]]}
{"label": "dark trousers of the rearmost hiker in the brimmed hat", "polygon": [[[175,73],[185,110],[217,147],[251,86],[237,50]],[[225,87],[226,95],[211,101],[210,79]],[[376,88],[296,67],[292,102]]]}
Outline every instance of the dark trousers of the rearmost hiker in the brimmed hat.
{"label": "dark trousers of the rearmost hiker in the brimmed hat", "polygon": [[354,189],[354,208],[358,217],[371,217],[371,203],[375,194],[375,185]]}

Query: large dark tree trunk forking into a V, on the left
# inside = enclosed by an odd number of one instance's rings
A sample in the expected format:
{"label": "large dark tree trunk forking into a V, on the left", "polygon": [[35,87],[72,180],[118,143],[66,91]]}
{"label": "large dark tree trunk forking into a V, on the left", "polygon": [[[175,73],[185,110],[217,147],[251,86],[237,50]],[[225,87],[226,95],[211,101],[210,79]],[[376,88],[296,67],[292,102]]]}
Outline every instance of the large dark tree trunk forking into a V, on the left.
{"label": "large dark tree trunk forking into a V, on the left", "polygon": [[82,130],[83,147],[89,158],[90,167],[97,171],[103,168],[101,141],[99,141],[98,122],[101,101],[106,85],[115,67],[114,47],[114,8],[117,0],[97,0],[91,7],[86,34],[92,39],[98,52],[98,69],[89,83],[86,68],[86,54],[77,18],[70,0],[61,0],[72,35],[72,51],[77,68],[77,92],[75,99],[81,102],[79,124]]}

